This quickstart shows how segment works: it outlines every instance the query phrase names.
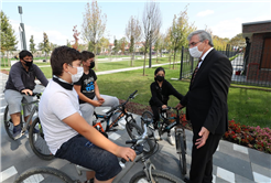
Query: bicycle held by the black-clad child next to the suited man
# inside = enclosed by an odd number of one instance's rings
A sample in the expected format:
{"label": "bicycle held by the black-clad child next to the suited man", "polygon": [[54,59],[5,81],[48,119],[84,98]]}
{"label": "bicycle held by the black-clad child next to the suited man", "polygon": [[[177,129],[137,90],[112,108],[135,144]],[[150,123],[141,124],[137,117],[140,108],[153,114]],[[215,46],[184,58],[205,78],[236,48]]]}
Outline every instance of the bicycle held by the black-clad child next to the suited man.
{"label": "bicycle held by the black-clad child next to the suited man", "polygon": [[[174,117],[167,117],[167,110],[175,110],[176,116]],[[173,122],[171,122],[173,121]],[[142,121],[141,126],[147,123],[149,127],[148,136],[153,137],[153,115],[151,111],[144,111],[142,114]],[[160,121],[158,121],[158,130],[159,134],[162,136],[163,133],[170,133],[171,129],[175,128],[175,144],[176,144],[176,153],[178,154],[180,159],[180,168],[182,175],[185,175],[187,172],[186,168],[186,136],[185,136],[185,129],[184,126],[180,122],[180,109],[169,107],[166,109],[163,109],[160,114]]]}

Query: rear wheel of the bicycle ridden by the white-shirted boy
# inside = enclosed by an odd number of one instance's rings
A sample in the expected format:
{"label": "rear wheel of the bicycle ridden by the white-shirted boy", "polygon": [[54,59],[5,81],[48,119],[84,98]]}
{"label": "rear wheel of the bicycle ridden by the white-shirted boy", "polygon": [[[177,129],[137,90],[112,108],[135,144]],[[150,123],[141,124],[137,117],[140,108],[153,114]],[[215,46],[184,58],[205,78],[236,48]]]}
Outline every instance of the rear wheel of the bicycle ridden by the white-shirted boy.
{"label": "rear wheel of the bicycle ridden by the white-shirted boy", "polygon": [[64,172],[56,170],[54,168],[32,168],[24,171],[14,183],[32,183],[32,182],[43,182],[43,183],[74,183],[74,181]]}

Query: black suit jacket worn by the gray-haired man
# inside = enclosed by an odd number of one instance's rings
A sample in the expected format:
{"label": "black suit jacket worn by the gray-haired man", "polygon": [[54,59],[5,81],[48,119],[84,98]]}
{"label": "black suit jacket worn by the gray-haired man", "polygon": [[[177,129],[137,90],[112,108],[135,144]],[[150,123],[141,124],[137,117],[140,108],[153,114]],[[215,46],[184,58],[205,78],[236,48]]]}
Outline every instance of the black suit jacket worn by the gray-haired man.
{"label": "black suit jacket worn by the gray-haired man", "polygon": [[228,130],[227,96],[232,75],[230,61],[216,50],[204,58],[189,90],[181,104],[186,106],[186,118],[193,129],[205,127],[223,134]]}

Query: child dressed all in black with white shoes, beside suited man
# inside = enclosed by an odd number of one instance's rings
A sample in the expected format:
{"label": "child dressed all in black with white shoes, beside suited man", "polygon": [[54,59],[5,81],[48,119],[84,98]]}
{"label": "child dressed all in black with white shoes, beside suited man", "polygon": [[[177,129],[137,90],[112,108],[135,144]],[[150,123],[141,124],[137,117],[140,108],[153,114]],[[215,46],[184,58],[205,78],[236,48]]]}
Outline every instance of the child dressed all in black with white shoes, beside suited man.
{"label": "child dressed all in black with white shoes, beside suited man", "polygon": [[[166,79],[164,79],[165,71],[163,67],[158,67],[154,72],[154,80],[151,84],[152,97],[149,101],[153,111],[153,125],[154,125],[154,138],[160,140],[161,137],[158,131],[158,121],[160,120],[160,112],[166,109],[170,95],[175,96],[177,99],[182,100],[183,95],[181,95]],[[167,133],[167,141],[174,146],[175,142],[171,136]]]}

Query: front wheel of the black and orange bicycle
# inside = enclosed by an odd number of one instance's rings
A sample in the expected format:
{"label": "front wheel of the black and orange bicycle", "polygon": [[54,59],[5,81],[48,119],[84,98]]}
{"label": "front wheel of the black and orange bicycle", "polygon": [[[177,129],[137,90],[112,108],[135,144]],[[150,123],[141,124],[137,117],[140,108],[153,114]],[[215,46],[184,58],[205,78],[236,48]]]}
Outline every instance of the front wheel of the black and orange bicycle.
{"label": "front wheel of the black and orange bicycle", "polygon": [[[131,139],[137,139],[143,134],[143,130],[136,123],[134,119],[131,119],[126,123],[126,130]],[[143,152],[150,153],[154,149],[154,143],[148,138],[145,139],[143,147]]]}

